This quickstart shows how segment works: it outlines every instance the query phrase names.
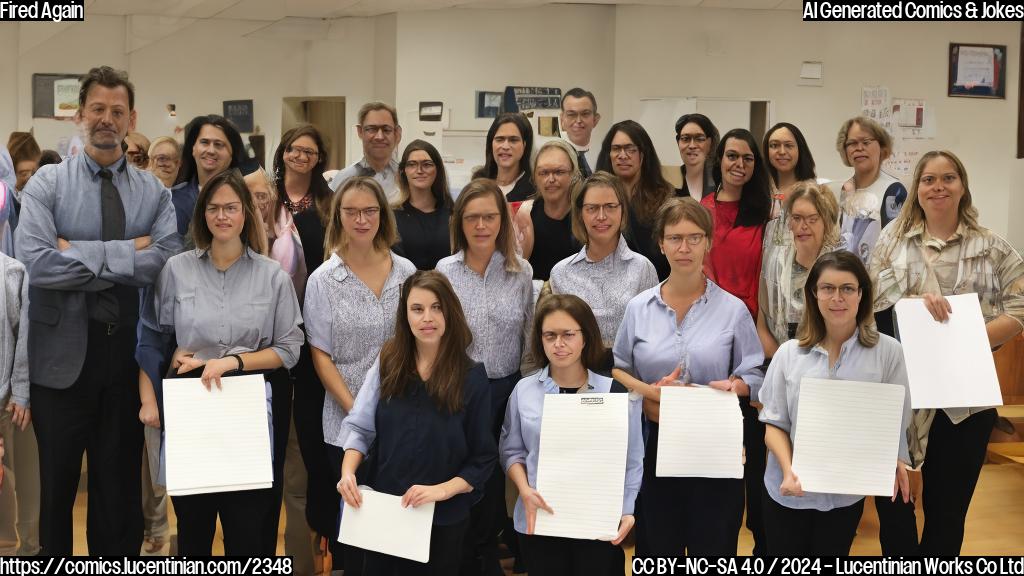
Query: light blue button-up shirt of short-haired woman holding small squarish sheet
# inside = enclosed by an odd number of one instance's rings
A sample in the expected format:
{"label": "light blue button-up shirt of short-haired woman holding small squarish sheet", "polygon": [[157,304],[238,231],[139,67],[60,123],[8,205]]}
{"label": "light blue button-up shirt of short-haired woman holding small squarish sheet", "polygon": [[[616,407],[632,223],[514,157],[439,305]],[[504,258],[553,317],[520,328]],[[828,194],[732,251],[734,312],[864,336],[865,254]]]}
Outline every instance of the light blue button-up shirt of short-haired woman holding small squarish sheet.
{"label": "light blue button-up shirt of short-haired woman holding small squarish sheet", "polygon": [[711,280],[680,322],[662,298],[662,284],[626,305],[612,352],[615,368],[644,382],[656,382],[686,359],[690,381],[707,384],[735,375],[757,400],[764,349],[742,300]]}

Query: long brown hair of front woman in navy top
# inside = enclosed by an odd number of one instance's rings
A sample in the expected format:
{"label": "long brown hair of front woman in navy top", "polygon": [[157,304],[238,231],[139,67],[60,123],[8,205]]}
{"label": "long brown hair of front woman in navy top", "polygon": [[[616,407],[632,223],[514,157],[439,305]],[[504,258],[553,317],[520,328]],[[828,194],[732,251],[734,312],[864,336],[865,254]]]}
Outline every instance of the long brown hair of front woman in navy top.
{"label": "long brown hair of front woman in navy top", "polygon": [[[463,382],[473,361],[466,354],[473,342],[466,316],[459,296],[443,274],[436,271],[418,271],[401,285],[398,315],[394,321],[394,337],[381,348],[381,398],[390,400],[409,394],[411,376],[416,376],[416,336],[409,325],[409,294],[413,288],[433,292],[444,315],[444,333],[434,360],[434,368],[427,378],[427,394],[437,408],[455,414],[462,410]],[[598,338],[598,341],[601,341]]]}

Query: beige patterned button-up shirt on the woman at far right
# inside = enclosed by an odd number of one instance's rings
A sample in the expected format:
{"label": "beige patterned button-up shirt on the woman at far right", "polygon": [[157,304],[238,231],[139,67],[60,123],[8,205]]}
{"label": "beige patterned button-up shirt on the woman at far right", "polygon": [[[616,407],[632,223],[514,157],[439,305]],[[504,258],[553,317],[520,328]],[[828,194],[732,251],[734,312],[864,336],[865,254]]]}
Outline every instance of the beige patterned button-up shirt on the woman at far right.
{"label": "beige patterned button-up shirt on the woman at far right", "polygon": [[[869,273],[876,312],[892,307],[904,296],[977,292],[985,322],[1006,315],[1024,326],[1024,261],[1009,242],[988,229],[961,223],[952,237],[942,241],[928,234],[924,223],[904,235],[897,235],[895,225],[889,227],[882,231],[871,253]],[[943,410],[955,424],[985,408]],[[933,415],[932,410],[914,414],[919,456],[925,453]]]}

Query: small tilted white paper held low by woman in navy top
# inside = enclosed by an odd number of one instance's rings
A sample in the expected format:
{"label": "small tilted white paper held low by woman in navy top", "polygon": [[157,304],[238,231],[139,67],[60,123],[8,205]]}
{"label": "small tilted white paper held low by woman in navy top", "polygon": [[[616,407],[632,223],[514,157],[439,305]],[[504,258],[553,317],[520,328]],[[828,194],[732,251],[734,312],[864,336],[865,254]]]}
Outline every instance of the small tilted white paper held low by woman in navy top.
{"label": "small tilted white paper held low by woman in navy top", "polygon": [[338,541],[415,562],[430,561],[430,531],[434,503],[401,507],[401,496],[374,492],[360,486],[362,505],[353,508],[341,501]]}

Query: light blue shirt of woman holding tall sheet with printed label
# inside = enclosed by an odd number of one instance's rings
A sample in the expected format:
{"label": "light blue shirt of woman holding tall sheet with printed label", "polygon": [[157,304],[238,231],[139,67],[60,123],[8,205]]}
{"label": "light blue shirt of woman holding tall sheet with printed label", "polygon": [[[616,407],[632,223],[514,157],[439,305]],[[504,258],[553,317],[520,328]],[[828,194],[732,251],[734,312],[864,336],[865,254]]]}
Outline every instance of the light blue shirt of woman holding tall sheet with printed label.
{"label": "light blue shirt of woman holding tall sheet with printed label", "polygon": [[[610,392],[612,381],[607,376],[588,371],[587,389],[582,389],[579,394]],[[541,417],[544,415],[544,397],[549,394],[559,394],[559,389],[558,383],[551,377],[547,367],[519,380],[515,389],[512,390],[512,396],[509,397],[509,405],[505,410],[505,423],[502,424],[502,436],[498,442],[498,454],[501,458],[502,469],[507,472],[512,464],[523,464],[526,467],[526,481],[532,487],[537,486],[537,463],[541,454]],[[633,513],[633,505],[643,480],[643,438],[640,434],[641,405],[639,397],[630,396],[629,410],[626,490],[623,492],[624,516]],[[516,499],[515,511],[512,517],[516,531],[525,534],[526,509],[523,507],[522,498]]]}

